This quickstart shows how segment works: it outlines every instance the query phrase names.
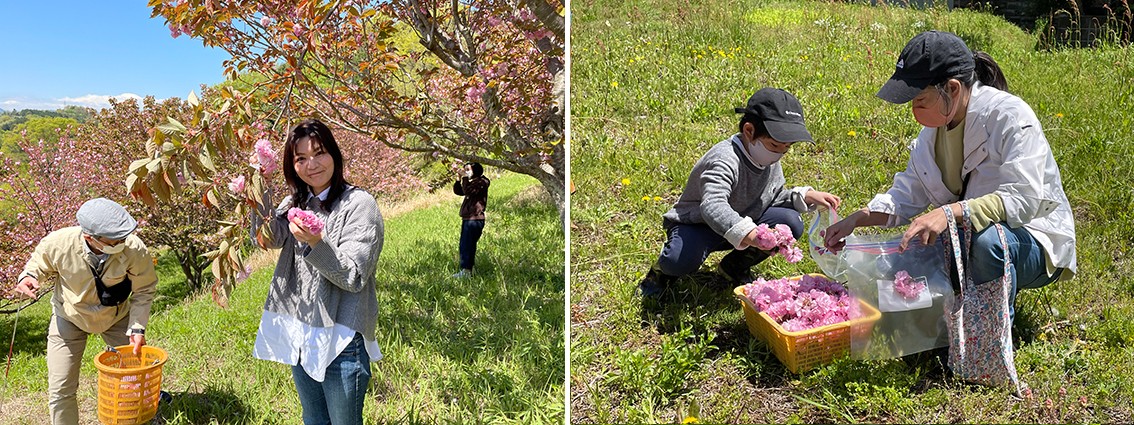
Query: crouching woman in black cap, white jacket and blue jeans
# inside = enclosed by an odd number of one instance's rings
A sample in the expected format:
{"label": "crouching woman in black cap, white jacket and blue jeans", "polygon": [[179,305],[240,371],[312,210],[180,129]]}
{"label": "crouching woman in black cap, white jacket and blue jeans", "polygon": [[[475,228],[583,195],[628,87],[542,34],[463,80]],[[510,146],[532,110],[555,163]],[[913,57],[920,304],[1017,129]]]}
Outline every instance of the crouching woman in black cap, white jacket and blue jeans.
{"label": "crouching woman in black cap, white jacket and blue jeans", "polygon": [[[928,243],[948,222],[962,222],[965,201],[973,235],[966,273],[973,282],[1001,279],[1008,262],[1012,308],[1018,290],[1070,279],[1075,222],[1059,167],[1035,112],[1007,90],[996,61],[970,51],[958,36],[931,31],[911,40],[878,96],[909,102],[925,127],[894,186],[828,228],[827,247],[841,249],[857,227],[906,223],[903,249],[914,239]],[[1007,258],[995,223],[1005,230]]]}

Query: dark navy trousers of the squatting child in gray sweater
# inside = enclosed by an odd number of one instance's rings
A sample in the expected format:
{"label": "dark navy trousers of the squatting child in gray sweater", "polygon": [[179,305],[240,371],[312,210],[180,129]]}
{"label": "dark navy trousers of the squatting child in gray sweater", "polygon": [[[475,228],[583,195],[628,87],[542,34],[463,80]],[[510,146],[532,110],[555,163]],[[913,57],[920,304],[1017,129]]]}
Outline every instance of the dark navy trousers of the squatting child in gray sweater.
{"label": "dark navy trousers of the squatting child in gray sweater", "polygon": [[[756,224],[787,224],[792,228],[792,235],[798,239],[803,236],[803,219],[799,212],[793,209],[773,206],[764,211]],[[662,273],[671,277],[683,277],[701,269],[709,254],[718,250],[731,249],[726,255],[734,264],[745,267],[753,266],[763,261],[767,255],[754,247],[744,250],[736,250],[723,236],[718,235],[709,224],[683,224],[666,222],[666,230],[669,236],[666,246],[661,248],[661,256],[658,257],[658,267]]]}

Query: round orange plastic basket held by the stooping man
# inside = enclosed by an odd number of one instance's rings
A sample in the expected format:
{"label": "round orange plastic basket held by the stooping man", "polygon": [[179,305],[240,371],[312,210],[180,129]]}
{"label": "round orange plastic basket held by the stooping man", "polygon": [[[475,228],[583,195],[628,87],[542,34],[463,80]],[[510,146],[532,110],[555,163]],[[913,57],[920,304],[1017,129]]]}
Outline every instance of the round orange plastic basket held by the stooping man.
{"label": "round orange plastic basket held by the stooping man", "polygon": [[142,346],[118,346],[118,352],[104,351],[94,357],[99,369],[99,422],[109,425],[144,424],[158,414],[161,399],[161,366],[166,350]]}

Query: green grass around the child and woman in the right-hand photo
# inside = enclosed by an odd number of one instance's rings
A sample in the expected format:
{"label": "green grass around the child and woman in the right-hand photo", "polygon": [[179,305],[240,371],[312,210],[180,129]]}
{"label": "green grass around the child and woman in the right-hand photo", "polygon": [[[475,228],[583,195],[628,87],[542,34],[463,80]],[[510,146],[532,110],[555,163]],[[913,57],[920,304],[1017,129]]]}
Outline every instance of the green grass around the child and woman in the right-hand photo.
{"label": "green grass around the child and woman in the right-hand photo", "polygon": [[[1134,419],[1134,377],[1114,373],[1134,366],[1131,48],[1036,51],[1035,36],[966,10],[581,0],[572,12],[573,422],[680,422],[692,403],[711,423]],[[662,308],[632,297],[665,240],[660,215],[696,159],[736,131],[733,108],[756,88],[794,93],[819,141],[785,156],[788,185],[835,193],[845,211],[886,190],[920,127],[908,107],[874,92],[926,29],[955,32],[999,61],[1039,116],[1074,206],[1078,277],[1017,301],[1016,365],[1032,399],[897,359],[792,374],[719,289],[710,271],[721,254],[679,280]],[[756,269],[815,271],[810,258]]]}

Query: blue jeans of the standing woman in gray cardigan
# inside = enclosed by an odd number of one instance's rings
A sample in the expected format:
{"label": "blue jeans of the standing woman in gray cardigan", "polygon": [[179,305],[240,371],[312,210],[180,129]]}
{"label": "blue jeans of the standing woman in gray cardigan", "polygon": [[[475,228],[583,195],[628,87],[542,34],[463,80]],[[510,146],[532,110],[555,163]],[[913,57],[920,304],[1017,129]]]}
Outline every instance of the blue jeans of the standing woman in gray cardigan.
{"label": "blue jeans of the standing woman in gray cardigan", "polygon": [[291,379],[299,391],[305,425],[362,425],[362,405],[370,385],[370,355],[361,333],[327,366],[323,382],[311,379],[303,366],[291,366]]}

